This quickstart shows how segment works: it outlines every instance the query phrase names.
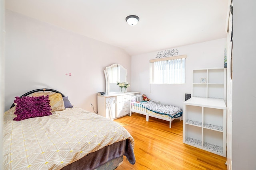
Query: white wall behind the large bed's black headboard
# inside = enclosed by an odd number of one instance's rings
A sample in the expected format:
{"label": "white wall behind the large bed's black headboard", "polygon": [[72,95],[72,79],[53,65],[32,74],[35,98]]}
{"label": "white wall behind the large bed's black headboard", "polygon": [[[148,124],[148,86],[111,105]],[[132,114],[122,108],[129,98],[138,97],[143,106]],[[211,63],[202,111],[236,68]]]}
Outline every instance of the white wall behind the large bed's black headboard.
{"label": "white wall behind the large bed's black headboard", "polygon": [[128,69],[130,82],[131,57],[124,50],[11,11],[5,49],[5,110],[15,96],[52,88],[74,106],[93,112],[92,103],[97,111],[96,94],[105,91],[103,70],[114,63]]}

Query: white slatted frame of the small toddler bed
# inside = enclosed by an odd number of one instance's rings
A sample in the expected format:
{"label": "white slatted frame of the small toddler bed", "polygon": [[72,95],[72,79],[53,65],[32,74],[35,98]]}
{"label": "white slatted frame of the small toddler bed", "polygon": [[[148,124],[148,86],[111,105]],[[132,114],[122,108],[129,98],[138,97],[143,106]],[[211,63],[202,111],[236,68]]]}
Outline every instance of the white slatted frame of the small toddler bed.
{"label": "white slatted frame of the small toddler bed", "polygon": [[[134,101],[134,99],[135,99],[135,102],[132,102],[132,101]],[[149,121],[149,117],[155,117],[155,118],[158,118],[158,119],[169,121],[170,122],[170,128],[172,127],[172,121],[176,118],[171,118],[171,117],[167,118],[167,117],[162,117],[161,115],[152,114],[147,110],[147,108],[145,106],[143,106],[143,103],[136,103],[136,102],[141,102],[141,101],[143,101],[142,100],[142,95],[133,96],[130,99],[130,116],[132,116],[132,112],[140,113],[142,115],[146,115],[146,121]],[[154,100],[151,100],[151,101],[159,104],[158,101],[154,101]],[[181,117],[179,117],[179,119],[181,120]]]}

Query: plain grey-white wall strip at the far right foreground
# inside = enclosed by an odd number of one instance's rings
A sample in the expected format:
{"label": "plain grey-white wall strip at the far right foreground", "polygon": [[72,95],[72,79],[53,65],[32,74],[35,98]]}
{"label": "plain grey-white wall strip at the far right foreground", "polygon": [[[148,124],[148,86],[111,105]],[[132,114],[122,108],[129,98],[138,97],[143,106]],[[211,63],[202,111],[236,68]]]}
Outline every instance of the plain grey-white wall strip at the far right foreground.
{"label": "plain grey-white wall strip at the far right foreground", "polygon": [[232,169],[256,169],[255,0],[234,0]]}

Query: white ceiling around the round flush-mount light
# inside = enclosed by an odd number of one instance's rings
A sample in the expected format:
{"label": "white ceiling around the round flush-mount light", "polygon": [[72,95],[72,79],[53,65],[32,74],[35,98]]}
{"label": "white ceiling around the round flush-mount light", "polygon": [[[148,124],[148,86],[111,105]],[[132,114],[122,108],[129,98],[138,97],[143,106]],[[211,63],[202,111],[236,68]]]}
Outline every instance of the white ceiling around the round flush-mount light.
{"label": "white ceiling around the round flush-mount light", "polygon": [[[226,37],[228,0],[6,0],[6,9],[131,56]],[[137,25],[125,18],[136,15]]]}

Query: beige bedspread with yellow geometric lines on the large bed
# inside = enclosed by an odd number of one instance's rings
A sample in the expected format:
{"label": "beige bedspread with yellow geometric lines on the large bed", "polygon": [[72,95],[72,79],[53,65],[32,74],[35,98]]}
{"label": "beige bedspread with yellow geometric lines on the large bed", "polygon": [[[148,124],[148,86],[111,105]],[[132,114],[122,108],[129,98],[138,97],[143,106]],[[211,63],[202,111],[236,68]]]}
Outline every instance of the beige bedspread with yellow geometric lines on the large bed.
{"label": "beige bedspread with yellow geometric lines on the large bed", "polygon": [[4,169],[59,170],[112,143],[134,139],[124,127],[78,107],[13,121],[4,114]]}

